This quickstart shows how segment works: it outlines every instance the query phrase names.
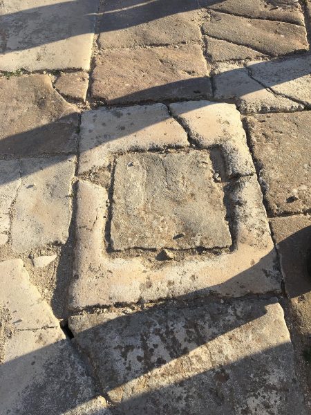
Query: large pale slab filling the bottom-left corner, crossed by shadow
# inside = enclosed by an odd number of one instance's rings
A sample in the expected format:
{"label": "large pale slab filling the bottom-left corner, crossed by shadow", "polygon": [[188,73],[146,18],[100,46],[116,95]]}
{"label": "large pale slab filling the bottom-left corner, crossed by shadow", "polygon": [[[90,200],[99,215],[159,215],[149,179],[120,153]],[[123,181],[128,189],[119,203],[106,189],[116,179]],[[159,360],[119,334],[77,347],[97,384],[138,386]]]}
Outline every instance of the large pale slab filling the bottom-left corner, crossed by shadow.
{"label": "large pale slab filling the bottom-left corner, crossed by shadow", "polygon": [[0,273],[0,307],[9,326],[0,345],[1,414],[108,414],[84,363],[30,284],[23,261],[2,262]]}

